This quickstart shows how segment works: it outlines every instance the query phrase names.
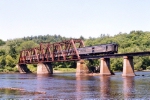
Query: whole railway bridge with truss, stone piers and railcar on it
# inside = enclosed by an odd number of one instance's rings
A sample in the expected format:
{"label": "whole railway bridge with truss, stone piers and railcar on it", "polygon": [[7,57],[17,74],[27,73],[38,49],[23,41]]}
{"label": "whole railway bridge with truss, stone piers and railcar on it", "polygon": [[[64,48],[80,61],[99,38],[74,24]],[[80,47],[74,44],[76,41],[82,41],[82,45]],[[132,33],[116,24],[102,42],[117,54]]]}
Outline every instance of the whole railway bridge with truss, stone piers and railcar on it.
{"label": "whole railway bridge with truss, stone piers and railcar on it", "polygon": [[122,57],[122,76],[135,76],[133,57],[150,55],[150,52],[117,54],[117,51],[116,44],[85,47],[80,39],[41,43],[39,47],[22,50],[17,67],[20,73],[26,73],[27,64],[37,64],[37,74],[53,74],[53,62],[77,61],[76,74],[82,75],[88,73],[84,59],[100,59],[100,75],[111,75],[110,58]]}

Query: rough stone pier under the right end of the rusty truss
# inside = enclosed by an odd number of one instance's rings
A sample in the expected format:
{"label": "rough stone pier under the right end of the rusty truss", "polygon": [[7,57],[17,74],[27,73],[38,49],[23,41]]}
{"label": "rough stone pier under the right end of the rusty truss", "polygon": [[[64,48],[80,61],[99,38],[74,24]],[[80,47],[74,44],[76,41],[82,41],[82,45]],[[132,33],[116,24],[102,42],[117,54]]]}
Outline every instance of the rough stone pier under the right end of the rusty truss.
{"label": "rough stone pier under the right end of the rusty truss", "polygon": [[88,67],[86,66],[84,60],[77,62],[76,75],[84,75],[89,72]]}

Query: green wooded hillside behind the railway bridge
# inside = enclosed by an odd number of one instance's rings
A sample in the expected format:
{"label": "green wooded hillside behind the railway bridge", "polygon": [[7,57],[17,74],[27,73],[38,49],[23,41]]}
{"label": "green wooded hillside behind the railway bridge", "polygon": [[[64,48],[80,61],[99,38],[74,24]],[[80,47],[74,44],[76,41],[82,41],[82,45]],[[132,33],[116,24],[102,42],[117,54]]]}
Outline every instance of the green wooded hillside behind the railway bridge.
{"label": "green wooded hillside behind the railway bridge", "polygon": [[[41,42],[61,42],[71,39],[71,37],[62,37],[61,35],[39,35],[16,38],[3,41],[0,39],[0,72],[17,72],[15,67],[18,63],[21,50],[39,46]],[[117,43],[119,45],[118,53],[143,52],[150,51],[150,32],[131,31],[130,33],[119,33],[114,36],[100,34],[99,37],[79,39],[84,41],[85,46],[92,46],[105,43]],[[99,66],[99,59],[93,60],[92,63],[86,61],[88,67]],[[29,65],[32,72],[36,71],[36,65]],[[76,62],[56,62],[54,68],[75,68]],[[137,71],[150,70],[150,56],[134,57],[134,69]],[[123,58],[111,58],[111,70],[123,70]]]}

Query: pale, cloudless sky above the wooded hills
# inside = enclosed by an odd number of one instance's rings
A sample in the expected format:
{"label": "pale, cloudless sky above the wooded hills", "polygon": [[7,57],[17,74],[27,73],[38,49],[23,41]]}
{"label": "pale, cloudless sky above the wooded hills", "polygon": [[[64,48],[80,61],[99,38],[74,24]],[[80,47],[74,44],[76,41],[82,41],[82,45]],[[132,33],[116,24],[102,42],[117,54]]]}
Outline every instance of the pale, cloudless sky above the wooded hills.
{"label": "pale, cloudless sky above the wooded hills", "polygon": [[150,31],[150,0],[0,0],[0,39]]}

